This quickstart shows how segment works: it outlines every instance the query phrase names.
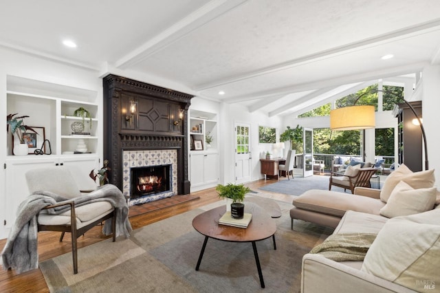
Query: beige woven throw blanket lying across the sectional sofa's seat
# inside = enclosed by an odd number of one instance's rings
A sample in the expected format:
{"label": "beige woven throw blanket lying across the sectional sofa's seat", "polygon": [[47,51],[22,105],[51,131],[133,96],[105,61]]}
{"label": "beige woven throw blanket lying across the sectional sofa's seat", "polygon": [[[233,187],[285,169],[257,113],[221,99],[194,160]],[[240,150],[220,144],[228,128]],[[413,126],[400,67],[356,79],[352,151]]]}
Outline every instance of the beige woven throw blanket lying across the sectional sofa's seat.
{"label": "beige woven throw blanket lying across the sectional sofa's seat", "polygon": [[371,233],[333,234],[310,253],[321,254],[333,261],[363,261],[376,236]]}

